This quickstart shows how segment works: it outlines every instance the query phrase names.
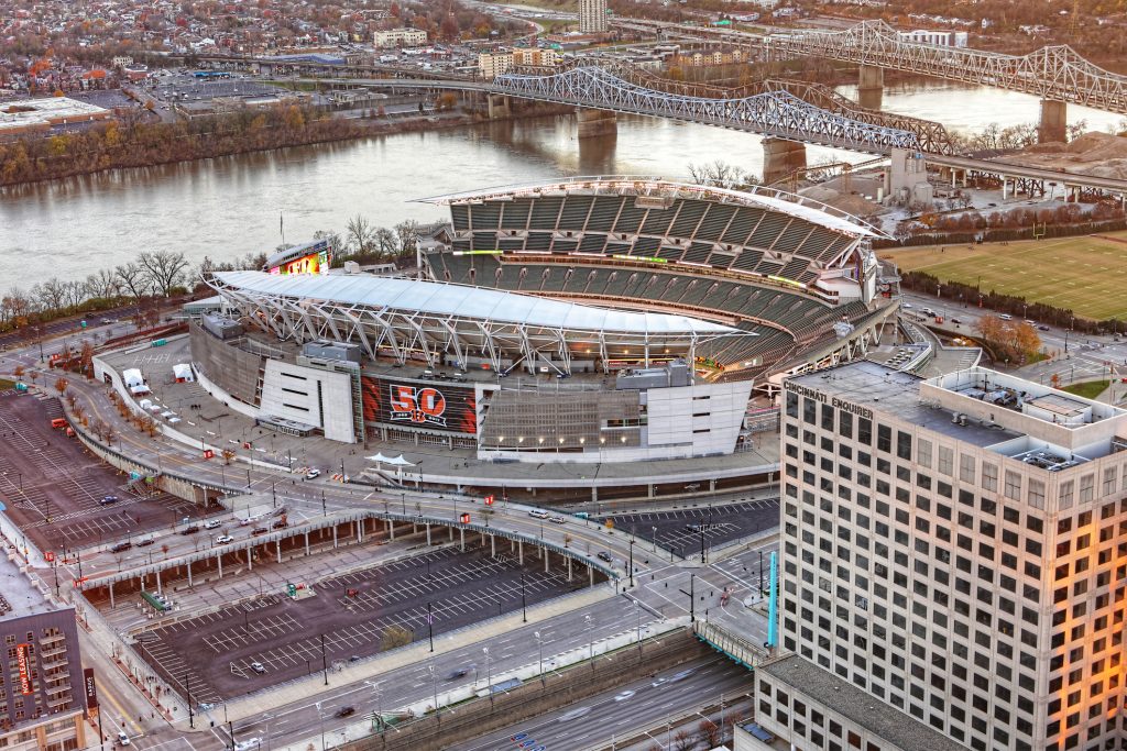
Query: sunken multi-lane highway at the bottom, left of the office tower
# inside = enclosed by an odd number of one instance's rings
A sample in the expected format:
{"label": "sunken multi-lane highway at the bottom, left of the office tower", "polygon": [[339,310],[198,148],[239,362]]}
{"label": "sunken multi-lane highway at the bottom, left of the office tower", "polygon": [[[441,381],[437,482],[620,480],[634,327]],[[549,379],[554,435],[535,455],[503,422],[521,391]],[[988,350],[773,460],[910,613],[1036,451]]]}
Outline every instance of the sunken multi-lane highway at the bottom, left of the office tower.
{"label": "sunken multi-lane highway at the bottom, left of the office tower", "polygon": [[[738,704],[754,690],[751,671],[722,655],[671,668],[655,676],[598,694],[531,721],[480,739],[447,746],[449,751],[577,751],[613,739],[627,739],[683,709]],[[524,737],[518,737],[524,736]],[[664,739],[662,739],[664,740]],[[531,745],[522,743],[534,741]]]}

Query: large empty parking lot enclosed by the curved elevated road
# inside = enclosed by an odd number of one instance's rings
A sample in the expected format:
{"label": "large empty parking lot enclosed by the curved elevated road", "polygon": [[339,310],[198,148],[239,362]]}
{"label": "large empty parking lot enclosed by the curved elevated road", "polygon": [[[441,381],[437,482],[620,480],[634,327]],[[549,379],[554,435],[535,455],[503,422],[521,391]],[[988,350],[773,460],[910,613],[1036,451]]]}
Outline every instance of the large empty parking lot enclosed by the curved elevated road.
{"label": "large empty parking lot enclosed by the curved elevated road", "polygon": [[522,589],[533,605],[586,584],[531,552],[523,567],[498,553],[446,547],[322,580],[310,597],[251,598],[151,632],[139,654],[193,701],[215,701],[511,613]]}

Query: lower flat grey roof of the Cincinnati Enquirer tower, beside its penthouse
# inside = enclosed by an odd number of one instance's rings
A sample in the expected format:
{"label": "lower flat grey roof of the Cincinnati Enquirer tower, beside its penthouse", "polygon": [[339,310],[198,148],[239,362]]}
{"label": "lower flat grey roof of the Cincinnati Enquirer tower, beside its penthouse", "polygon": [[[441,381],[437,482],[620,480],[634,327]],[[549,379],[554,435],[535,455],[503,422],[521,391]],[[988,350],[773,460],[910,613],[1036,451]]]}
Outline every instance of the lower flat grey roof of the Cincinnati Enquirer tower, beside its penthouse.
{"label": "lower flat grey roof of the Cincinnati Enquirer tower, beside its penthouse", "polygon": [[1020,437],[1018,432],[984,427],[978,421],[960,424],[953,411],[921,400],[920,384],[924,383],[923,378],[869,360],[801,375],[788,379],[788,383],[868,406],[876,412],[895,414],[905,422],[976,446],[992,446]]}

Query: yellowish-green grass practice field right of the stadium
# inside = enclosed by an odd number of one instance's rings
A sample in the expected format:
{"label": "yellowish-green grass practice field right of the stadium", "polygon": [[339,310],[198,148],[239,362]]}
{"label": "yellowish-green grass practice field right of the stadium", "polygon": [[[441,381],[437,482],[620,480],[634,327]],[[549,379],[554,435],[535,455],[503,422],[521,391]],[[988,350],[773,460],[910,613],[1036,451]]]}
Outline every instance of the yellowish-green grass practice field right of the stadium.
{"label": "yellowish-green grass practice field right of the stadium", "polygon": [[[942,250],[941,250],[942,249]],[[991,289],[1029,302],[1071,307],[1103,321],[1127,319],[1127,232],[1009,244],[924,245],[880,251],[902,271],[926,271],[943,281]]]}

